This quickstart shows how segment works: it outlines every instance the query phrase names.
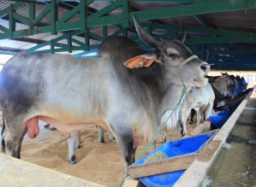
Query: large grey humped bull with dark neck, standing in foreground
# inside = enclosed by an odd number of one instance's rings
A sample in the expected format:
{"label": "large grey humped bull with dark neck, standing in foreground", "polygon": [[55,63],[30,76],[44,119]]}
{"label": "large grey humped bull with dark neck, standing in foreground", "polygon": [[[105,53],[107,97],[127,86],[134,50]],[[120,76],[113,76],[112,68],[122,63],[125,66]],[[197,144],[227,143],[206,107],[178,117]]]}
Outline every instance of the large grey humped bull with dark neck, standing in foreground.
{"label": "large grey humped bull with dark neck, standing in foreground", "polygon": [[136,18],[134,24],[140,38],[156,50],[147,52],[137,44],[129,48],[123,42],[132,40],[116,37],[118,47],[110,45],[110,52],[98,59],[29,54],[6,63],[0,102],[7,155],[21,158],[23,137],[39,134],[39,120],[66,137],[86,126],[102,126],[116,137],[127,173],[134,145],[152,140],[161,117],[176,107],[183,85],[206,85],[210,71],[182,44],[185,32],[168,41],[153,38]]}

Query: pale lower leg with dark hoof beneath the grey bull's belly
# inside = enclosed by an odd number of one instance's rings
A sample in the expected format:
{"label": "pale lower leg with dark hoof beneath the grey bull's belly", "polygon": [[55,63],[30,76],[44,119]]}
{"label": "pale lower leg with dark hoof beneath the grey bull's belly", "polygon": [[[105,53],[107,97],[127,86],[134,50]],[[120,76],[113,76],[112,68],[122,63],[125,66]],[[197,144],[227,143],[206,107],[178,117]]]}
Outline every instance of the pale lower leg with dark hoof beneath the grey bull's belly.
{"label": "pale lower leg with dark hoof beneath the grey bull's belly", "polygon": [[76,164],[74,149],[80,149],[79,131],[71,131],[68,138],[68,161],[70,164]]}

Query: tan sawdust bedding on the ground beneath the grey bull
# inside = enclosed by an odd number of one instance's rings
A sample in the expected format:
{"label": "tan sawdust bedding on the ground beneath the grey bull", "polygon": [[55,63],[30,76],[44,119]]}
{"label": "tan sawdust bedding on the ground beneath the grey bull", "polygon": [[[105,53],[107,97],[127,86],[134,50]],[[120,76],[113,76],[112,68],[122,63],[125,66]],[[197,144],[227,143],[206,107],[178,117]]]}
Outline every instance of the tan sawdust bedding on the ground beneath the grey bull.
{"label": "tan sawdust bedding on the ground beneath the grey bull", "polygon": [[[70,165],[67,139],[61,132],[51,131],[44,125],[42,121],[39,123],[39,137],[30,139],[25,136],[21,146],[21,160],[104,186],[121,184],[124,178],[124,162],[120,149],[116,143],[110,142],[107,131],[104,131],[105,143],[98,143],[96,127],[80,131],[81,149],[75,150],[78,163]],[[194,126],[188,125],[187,128],[189,132]],[[172,131],[167,134],[167,140],[170,140],[171,135]],[[173,139],[176,140],[177,137],[176,133]],[[157,147],[160,145],[158,138]],[[136,158],[144,148],[145,146],[138,147]],[[150,148],[146,150],[146,154],[148,153]]]}

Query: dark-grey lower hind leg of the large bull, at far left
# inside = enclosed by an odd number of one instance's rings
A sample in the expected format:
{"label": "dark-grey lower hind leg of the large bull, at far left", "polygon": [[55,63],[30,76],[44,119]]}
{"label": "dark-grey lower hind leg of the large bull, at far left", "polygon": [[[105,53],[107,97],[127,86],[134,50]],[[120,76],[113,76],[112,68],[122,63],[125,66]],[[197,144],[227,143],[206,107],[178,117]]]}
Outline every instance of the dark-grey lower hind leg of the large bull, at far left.
{"label": "dark-grey lower hind leg of the large bull, at far left", "polygon": [[27,126],[18,120],[9,121],[6,119],[6,128],[3,132],[5,139],[5,154],[21,159],[21,143],[27,133]]}

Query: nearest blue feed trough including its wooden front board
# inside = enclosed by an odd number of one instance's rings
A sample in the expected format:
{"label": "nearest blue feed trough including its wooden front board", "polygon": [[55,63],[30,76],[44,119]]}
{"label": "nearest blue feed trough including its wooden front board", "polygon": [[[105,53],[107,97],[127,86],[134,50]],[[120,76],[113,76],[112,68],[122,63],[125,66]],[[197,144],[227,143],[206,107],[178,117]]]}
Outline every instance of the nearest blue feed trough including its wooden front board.
{"label": "nearest blue feed trough including its wooden front board", "polygon": [[215,134],[216,131],[209,131],[164,143],[128,167],[129,176],[140,178],[146,186],[171,186],[182,176]]}

